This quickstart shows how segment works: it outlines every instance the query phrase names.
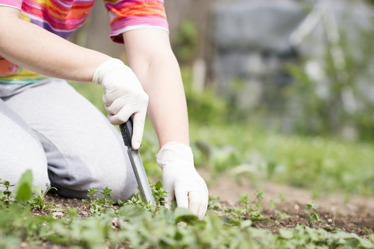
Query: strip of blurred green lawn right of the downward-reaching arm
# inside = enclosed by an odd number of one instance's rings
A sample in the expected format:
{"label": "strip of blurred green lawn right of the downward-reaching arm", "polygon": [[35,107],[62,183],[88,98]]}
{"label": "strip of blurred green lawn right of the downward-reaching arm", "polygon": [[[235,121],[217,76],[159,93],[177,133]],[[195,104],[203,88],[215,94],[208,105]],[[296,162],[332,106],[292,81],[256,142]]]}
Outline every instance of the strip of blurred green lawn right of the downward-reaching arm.
{"label": "strip of blurred green lawn right of the downward-reaching arm", "polygon": [[197,165],[216,174],[229,171],[320,193],[374,195],[371,143],[285,135],[249,124],[192,123],[191,131]]}

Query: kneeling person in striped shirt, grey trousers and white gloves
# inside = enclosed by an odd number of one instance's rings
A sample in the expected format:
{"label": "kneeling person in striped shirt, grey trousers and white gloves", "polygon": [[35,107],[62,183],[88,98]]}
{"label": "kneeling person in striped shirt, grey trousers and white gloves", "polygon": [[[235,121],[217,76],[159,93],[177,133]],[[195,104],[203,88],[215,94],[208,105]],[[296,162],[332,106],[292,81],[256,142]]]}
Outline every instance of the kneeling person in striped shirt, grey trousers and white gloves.
{"label": "kneeling person in striped shirt, grey trousers and white gloves", "polygon": [[[85,198],[87,189],[109,187],[114,199],[127,199],[136,181],[109,122],[121,124],[133,115],[132,147],[138,149],[147,112],[161,147],[157,163],[167,205],[176,199],[202,219],[208,190],[193,165],[163,1],[105,0],[110,37],[125,44],[130,67],[66,41],[93,5],[0,0],[0,178],[15,183],[31,169],[35,185],[51,183],[62,196]],[[108,119],[65,80],[103,86]]]}

